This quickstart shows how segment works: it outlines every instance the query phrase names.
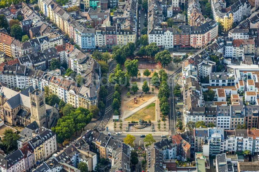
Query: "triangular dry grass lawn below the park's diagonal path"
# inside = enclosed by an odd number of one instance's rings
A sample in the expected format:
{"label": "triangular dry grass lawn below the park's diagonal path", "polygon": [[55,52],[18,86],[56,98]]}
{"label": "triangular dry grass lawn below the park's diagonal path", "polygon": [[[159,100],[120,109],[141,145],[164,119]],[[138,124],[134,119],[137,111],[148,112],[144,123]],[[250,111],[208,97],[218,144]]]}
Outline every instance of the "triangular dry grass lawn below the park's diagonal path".
{"label": "triangular dry grass lawn below the park's diagonal path", "polygon": [[145,121],[148,121],[150,119],[151,121],[155,121],[156,120],[155,106],[156,106],[156,103],[151,103],[150,105],[144,107],[140,111],[126,118],[125,121],[139,121],[139,119],[145,120]]}

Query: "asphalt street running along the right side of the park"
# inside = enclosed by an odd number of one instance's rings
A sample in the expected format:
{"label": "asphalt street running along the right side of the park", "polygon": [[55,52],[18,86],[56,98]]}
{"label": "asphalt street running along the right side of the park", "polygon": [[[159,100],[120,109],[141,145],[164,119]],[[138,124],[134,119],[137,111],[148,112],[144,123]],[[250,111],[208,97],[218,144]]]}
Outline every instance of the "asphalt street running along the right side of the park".
{"label": "asphalt street running along the right side of the park", "polygon": [[169,76],[169,88],[170,88],[170,114],[169,114],[169,131],[171,131],[171,135],[177,134],[175,132],[176,125],[176,110],[175,110],[175,99],[174,99],[174,79],[175,77],[182,72],[182,68],[178,68],[172,75]]}

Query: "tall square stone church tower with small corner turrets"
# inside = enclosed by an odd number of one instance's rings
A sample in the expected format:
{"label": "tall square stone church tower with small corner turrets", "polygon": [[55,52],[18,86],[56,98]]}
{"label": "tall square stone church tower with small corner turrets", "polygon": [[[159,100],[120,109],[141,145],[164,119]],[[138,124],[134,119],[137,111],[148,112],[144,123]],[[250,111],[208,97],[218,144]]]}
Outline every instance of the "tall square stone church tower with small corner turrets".
{"label": "tall square stone church tower with small corner turrets", "polygon": [[43,87],[41,90],[35,86],[34,90],[29,89],[31,104],[31,123],[36,121],[39,127],[47,127],[46,105]]}

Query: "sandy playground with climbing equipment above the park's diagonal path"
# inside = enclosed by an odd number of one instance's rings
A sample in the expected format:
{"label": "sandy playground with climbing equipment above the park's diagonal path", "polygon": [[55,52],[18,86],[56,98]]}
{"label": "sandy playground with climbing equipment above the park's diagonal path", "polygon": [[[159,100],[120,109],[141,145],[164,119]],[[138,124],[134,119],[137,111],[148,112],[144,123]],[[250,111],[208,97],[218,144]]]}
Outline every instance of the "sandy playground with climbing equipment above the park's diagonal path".
{"label": "sandy playground with climbing equipment above the park's diagonal path", "polygon": [[135,95],[131,95],[131,97],[129,98],[130,101],[124,104],[124,110],[133,110],[134,108],[139,107],[140,105],[142,105],[149,99],[153,98],[154,96],[155,95],[141,95],[135,93]]}

